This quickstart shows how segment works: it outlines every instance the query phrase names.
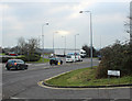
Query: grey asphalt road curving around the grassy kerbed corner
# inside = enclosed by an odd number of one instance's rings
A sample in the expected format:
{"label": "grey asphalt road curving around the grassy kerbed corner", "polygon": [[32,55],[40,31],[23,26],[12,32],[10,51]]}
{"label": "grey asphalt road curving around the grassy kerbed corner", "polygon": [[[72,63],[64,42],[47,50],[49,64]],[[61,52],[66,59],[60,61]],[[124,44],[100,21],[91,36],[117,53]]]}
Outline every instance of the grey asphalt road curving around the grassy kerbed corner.
{"label": "grey asphalt road curving around the grassy kerbed corner", "polygon": [[[94,66],[99,61],[94,59]],[[105,89],[54,89],[37,85],[38,81],[62,72],[90,67],[90,60],[84,63],[50,66],[48,64],[30,64],[28,70],[6,70],[2,65],[3,99],[130,99],[130,88]]]}

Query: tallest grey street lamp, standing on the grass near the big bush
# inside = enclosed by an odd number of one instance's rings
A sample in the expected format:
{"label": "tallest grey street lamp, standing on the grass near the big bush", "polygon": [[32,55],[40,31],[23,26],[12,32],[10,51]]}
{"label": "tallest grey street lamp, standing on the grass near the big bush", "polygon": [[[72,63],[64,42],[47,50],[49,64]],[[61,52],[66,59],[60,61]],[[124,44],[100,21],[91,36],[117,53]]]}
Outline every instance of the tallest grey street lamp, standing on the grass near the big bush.
{"label": "tallest grey street lamp, standing on the grass near the big bush", "polygon": [[90,56],[91,56],[91,68],[92,68],[92,22],[91,22],[91,11],[80,11],[79,13],[90,13]]}

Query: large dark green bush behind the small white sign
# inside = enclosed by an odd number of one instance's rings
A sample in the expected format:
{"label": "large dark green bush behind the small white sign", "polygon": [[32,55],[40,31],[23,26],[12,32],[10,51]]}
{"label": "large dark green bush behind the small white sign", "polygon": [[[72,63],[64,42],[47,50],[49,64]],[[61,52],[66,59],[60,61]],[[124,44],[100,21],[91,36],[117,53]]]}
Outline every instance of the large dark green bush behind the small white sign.
{"label": "large dark green bush behind the small white sign", "polygon": [[108,70],[120,70],[121,76],[132,75],[132,52],[129,44],[116,43],[101,50],[102,60],[97,68],[96,78],[106,78]]}

